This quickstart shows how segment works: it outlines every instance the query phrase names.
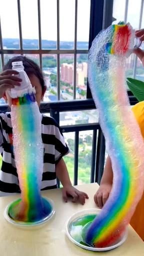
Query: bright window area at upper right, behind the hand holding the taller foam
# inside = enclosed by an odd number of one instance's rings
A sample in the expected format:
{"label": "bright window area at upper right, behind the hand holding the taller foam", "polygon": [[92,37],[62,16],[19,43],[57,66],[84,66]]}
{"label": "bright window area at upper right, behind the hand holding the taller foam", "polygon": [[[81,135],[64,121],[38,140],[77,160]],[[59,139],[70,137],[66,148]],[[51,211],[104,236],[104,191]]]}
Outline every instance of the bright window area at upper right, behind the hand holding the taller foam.
{"label": "bright window area at upper right, behind the hand holding the taller foam", "polygon": [[[116,18],[113,23],[124,20],[129,22],[134,29],[143,28],[143,0],[136,0],[136,5],[135,0],[113,0],[113,17]],[[141,48],[144,49],[143,46]],[[144,69],[135,54],[131,54],[127,58],[126,68],[126,76],[144,81]]]}

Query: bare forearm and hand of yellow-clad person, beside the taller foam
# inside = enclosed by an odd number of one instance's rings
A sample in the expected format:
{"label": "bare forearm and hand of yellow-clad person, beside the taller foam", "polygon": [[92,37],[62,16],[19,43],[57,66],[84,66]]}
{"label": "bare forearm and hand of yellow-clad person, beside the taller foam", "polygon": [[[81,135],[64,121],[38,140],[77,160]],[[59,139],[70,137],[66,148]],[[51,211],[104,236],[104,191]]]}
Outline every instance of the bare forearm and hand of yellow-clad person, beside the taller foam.
{"label": "bare forearm and hand of yellow-clad person, beside the taller foam", "polygon": [[111,160],[108,156],[106,159],[103,175],[100,181],[100,186],[97,190],[97,192],[94,194],[94,202],[99,208],[102,208],[104,203],[106,202],[111,186],[112,186],[112,179],[113,179],[113,173],[112,173],[112,166],[111,166]]}

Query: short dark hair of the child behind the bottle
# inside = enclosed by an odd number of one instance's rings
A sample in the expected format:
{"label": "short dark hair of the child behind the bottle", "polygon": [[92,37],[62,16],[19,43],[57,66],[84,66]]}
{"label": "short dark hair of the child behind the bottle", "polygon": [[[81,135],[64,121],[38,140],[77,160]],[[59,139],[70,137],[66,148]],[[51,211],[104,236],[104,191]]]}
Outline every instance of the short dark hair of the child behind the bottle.
{"label": "short dark hair of the child behind the bottle", "polygon": [[11,69],[13,61],[22,61],[26,74],[27,75],[35,74],[35,76],[39,79],[42,89],[44,88],[44,79],[43,79],[43,75],[42,75],[42,72],[41,72],[39,66],[33,60],[31,60],[30,58],[27,58],[23,55],[14,56],[14,57],[10,58],[8,60],[8,62],[4,65],[3,71],[6,69]]}

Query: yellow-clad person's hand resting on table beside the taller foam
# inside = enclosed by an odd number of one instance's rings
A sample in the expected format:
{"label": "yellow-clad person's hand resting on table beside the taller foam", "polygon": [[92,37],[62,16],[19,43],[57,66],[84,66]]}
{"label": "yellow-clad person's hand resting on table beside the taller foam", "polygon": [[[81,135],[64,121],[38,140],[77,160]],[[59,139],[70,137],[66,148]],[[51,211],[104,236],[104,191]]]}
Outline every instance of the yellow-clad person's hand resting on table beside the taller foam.
{"label": "yellow-clad person's hand resting on table beside the taller foam", "polygon": [[111,184],[101,184],[94,194],[94,202],[99,208],[102,208],[106,200],[108,199],[111,190]]}

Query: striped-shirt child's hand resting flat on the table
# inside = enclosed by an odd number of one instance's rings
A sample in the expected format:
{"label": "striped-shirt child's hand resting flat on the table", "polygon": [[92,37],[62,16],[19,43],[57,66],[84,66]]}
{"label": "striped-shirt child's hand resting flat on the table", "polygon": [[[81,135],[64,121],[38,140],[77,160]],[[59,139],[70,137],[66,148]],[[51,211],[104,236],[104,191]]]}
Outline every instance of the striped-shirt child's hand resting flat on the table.
{"label": "striped-shirt child's hand resting flat on the table", "polygon": [[67,202],[67,197],[72,196],[72,202],[85,203],[85,198],[88,199],[88,195],[82,191],[77,190],[72,185],[67,185],[62,188],[62,198]]}

